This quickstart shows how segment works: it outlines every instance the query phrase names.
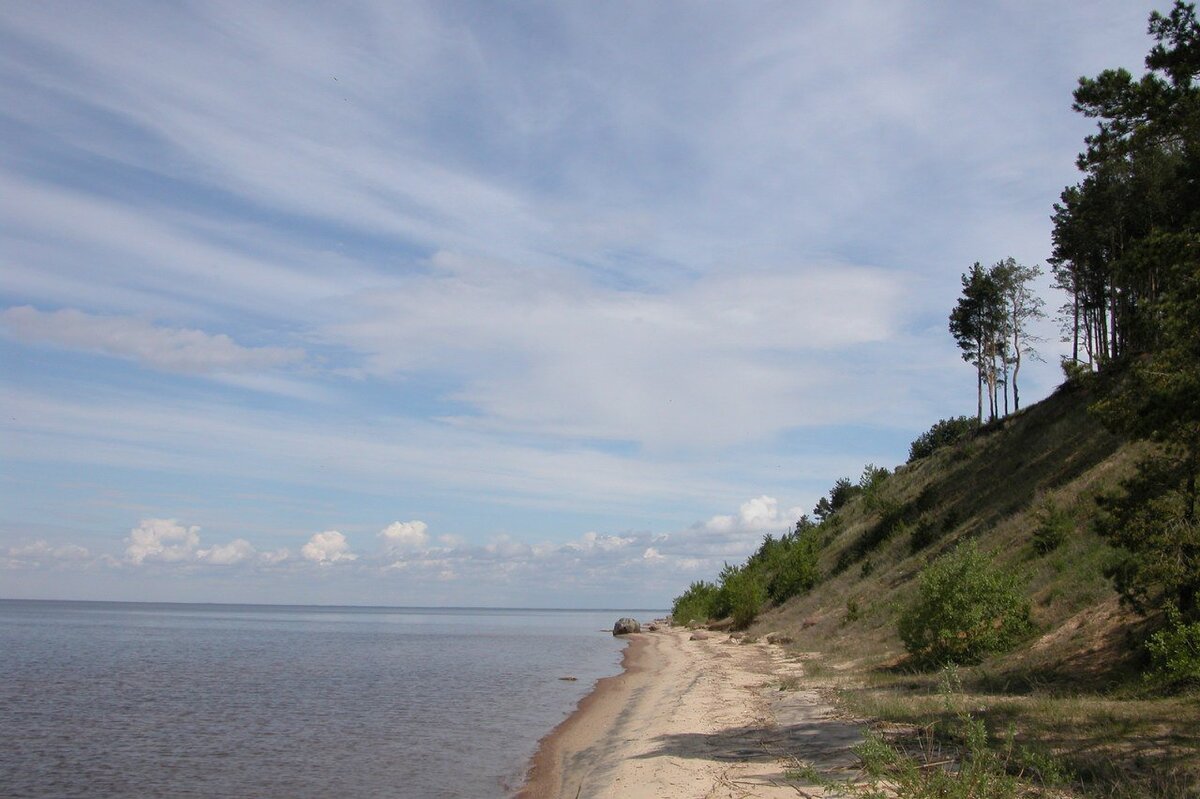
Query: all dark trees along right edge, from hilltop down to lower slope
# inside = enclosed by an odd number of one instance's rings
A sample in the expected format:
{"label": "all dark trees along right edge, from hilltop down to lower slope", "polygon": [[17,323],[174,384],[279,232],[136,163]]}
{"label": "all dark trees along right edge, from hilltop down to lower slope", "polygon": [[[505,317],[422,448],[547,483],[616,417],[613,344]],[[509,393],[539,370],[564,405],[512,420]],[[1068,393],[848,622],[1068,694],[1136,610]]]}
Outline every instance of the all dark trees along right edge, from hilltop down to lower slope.
{"label": "all dark trees along right edge, from hilltop down to lower slope", "polygon": [[1200,24],[1193,4],[1150,17],[1146,73],[1081,78],[1074,108],[1097,120],[1084,179],[1055,205],[1056,283],[1072,362],[1096,371],[1094,411],[1154,441],[1135,475],[1100,499],[1099,531],[1134,607],[1193,641],[1200,678]]}

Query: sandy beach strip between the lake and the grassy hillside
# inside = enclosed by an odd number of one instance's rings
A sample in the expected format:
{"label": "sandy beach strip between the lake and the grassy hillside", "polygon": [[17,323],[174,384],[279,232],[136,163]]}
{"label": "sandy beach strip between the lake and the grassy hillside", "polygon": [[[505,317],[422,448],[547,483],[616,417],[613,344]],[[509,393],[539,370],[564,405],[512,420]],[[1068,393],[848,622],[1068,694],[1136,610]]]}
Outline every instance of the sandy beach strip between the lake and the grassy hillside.
{"label": "sandy beach strip between the lake and the grassy hillside", "polygon": [[671,627],[631,636],[624,666],[542,741],[518,799],[794,799],[835,794],[785,771],[854,774],[859,728],[781,647]]}

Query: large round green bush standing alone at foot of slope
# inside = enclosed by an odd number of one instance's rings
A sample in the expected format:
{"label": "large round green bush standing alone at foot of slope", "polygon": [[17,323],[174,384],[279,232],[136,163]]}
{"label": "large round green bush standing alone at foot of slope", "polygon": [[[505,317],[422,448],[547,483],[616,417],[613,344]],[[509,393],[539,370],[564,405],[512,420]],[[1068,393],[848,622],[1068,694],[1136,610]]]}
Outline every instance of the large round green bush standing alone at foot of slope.
{"label": "large round green bush standing alone at foot of slope", "polygon": [[905,648],[925,665],[977,663],[1010,649],[1032,626],[1018,579],[994,567],[974,542],[925,567],[899,625]]}

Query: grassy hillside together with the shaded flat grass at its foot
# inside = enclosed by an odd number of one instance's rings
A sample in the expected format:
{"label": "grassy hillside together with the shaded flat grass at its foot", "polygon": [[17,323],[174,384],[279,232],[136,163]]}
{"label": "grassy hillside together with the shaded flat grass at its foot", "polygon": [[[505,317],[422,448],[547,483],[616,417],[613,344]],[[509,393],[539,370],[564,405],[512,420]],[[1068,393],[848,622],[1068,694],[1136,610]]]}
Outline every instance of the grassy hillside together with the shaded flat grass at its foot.
{"label": "grassy hillside together with the shaded flat grass at its foot", "polygon": [[1016,578],[1033,623],[1014,649],[954,673],[955,702],[994,745],[1012,731],[1024,747],[1009,769],[1049,774],[1069,795],[1200,795],[1200,703],[1142,680],[1162,619],[1122,606],[1105,576],[1117,552],[1093,529],[1097,495],[1134,471],[1145,446],[1088,413],[1097,391],[1068,384],[845,503],[809,531],[818,582],[768,602],[746,635],[793,639],[810,683],[847,713],[892,731],[941,729],[938,746],[953,747],[946,674],[908,655],[898,624],[922,570],[974,541]]}

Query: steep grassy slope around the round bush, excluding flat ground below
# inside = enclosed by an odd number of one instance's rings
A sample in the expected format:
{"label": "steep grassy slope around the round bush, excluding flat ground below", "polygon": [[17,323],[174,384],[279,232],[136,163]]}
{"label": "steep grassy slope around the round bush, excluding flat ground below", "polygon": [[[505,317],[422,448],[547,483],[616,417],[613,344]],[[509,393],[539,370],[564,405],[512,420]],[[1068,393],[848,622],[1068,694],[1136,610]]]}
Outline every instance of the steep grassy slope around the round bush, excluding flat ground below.
{"label": "steep grassy slope around the round bush, excluding flat ground below", "polygon": [[[977,539],[994,561],[1027,581],[1043,636],[992,667],[1028,671],[1039,683],[1076,684],[1080,667],[1094,684],[1128,677],[1141,620],[1117,607],[1104,576],[1112,549],[1092,531],[1094,498],[1132,468],[1136,447],[1122,445],[1087,411],[1091,392],[1064,386],[1048,400],[983,428],[967,440],[900,467],[880,488],[876,507],[852,499],[832,519],[817,589],[767,611],[754,630],[803,631],[803,639],[859,665],[899,665],[900,607],[916,577],[937,555]],[[884,506],[880,510],[880,505]],[[1034,531],[1048,507],[1069,517],[1056,549],[1039,554]],[[850,611],[847,608],[851,608]],[[848,620],[850,617],[853,620]],[[857,617],[857,618],[856,618]],[[1094,657],[1098,647],[1103,657]]]}

